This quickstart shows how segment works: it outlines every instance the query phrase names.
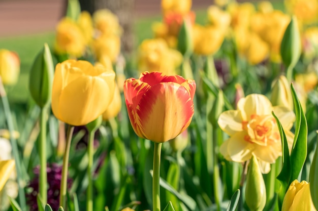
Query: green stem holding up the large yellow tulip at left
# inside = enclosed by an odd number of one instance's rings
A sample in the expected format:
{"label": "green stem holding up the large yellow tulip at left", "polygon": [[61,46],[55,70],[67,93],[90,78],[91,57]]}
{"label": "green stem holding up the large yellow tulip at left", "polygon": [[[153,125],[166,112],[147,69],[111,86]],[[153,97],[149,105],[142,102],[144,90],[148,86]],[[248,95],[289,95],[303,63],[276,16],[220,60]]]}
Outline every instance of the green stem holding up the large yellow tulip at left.
{"label": "green stem holding up the large yellow tulip at left", "polygon": [[70,149],[71,149],[71,141],[72,141],[73,131],[74,131],[74,126],[69,125],[68,132],[67,132],[67,138],[66,138],[65,152],[63,155],[62,178],[61,178],[61,186],[60,186],[60,194],[59,194],[59,206],[62,206],[63,208],[65,208],[65,205],[66,205],[69,157],[70,157]]}

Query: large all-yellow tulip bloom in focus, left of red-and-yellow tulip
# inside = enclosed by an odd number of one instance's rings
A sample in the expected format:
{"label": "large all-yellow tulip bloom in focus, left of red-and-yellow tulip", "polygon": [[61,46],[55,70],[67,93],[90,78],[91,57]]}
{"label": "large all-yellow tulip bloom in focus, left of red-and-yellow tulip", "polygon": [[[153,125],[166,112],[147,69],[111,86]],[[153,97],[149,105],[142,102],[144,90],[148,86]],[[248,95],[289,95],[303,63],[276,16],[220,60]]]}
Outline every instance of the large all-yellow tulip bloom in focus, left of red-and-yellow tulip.
{"label": "large all-yellow tulip bloom in focus, left of red-and-yellow tulip", "polygon": [[85,125],[99,117],[114,96],[115,72],[87,61],[66,60],[55,67],[52,111],[71,125]]}

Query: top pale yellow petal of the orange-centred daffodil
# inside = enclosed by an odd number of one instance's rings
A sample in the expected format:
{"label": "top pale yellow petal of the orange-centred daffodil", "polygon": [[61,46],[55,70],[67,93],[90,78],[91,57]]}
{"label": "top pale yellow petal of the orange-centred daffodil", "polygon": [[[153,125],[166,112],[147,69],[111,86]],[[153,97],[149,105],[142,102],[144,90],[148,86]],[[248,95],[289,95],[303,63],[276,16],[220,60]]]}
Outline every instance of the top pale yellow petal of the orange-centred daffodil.
{"label": "top pale yellow petal of the orange-centred daffodil", "polygon": [[251,115],[271,115],[272,104],[266,96],[251,94],[241,98],[237,103],[237,109],[242,113],[243,120],[250,120]]}

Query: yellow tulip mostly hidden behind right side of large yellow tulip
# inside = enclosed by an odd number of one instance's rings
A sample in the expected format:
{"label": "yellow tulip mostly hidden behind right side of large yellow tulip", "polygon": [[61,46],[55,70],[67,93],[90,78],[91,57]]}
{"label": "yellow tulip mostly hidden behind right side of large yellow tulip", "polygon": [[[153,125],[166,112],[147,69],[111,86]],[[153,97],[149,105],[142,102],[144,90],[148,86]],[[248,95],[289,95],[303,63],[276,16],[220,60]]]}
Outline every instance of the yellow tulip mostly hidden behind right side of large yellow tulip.
{"label": "yellow tulip mostly hidden behind right side of large yellow tulip", "polygon": [[110,118],[117,116],[120,109],[121,109],[121,95],[120,95],[118,86],[116,84],[113,100],[107,107],[107,110],[103,113],[103,120],[108,120]]}

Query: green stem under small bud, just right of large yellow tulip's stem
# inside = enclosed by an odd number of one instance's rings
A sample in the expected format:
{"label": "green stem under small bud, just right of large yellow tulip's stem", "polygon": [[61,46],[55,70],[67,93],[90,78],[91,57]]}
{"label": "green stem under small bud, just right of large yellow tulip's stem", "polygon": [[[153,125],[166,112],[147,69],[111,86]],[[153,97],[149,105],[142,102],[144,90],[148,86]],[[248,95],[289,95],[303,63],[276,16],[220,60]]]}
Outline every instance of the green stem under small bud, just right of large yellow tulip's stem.
{"label": "green stem under small bud, just right of large yellow tulip's stem", "polygon": [[93,166],[93,159],[94,159],[94,135],[96,130],[92,130],[89,132],[89,139],[88,139],[88,165],[87,165],[87,177],[88,177],[88,187],[87,187],[87,203],[86,203],[86,210],[92,211],[93,210],[93,179],[92,179],[92,166]]}

